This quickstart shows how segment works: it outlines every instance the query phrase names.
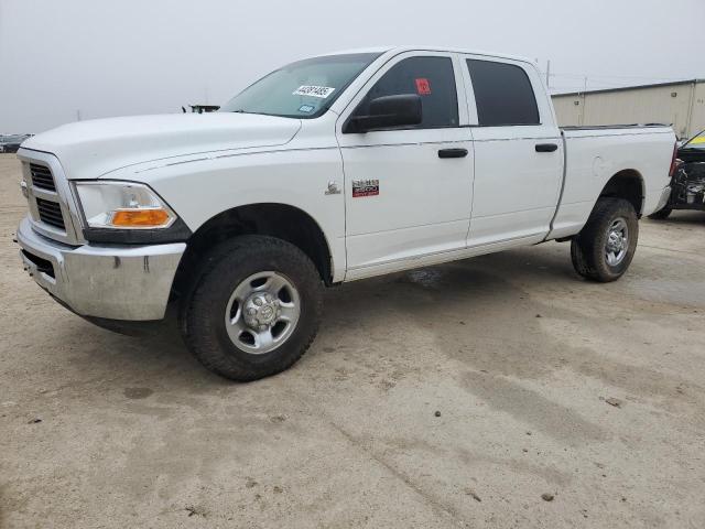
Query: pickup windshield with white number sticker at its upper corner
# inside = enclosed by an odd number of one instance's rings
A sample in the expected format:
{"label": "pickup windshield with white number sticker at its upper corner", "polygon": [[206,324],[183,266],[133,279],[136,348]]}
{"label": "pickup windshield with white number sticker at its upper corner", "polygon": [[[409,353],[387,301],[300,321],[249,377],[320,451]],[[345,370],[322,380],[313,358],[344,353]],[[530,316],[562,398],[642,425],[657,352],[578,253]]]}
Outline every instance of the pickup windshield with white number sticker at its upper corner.
{"label": "pickup windshield with white number sticker at its upper corner", "polygon": [[379,54],[306,58],[275,69],[224,105],[221,112],[317,118]]}

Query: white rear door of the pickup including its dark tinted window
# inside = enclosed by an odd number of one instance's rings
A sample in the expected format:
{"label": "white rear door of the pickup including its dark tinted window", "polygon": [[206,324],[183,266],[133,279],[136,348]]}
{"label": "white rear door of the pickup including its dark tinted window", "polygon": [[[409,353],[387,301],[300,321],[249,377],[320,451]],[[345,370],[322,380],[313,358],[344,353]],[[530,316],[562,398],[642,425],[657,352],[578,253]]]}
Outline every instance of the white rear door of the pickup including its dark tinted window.
{"label": "white rear door of the pickup including its dark tinted window", "polygon": [[535,68],[465,55],[475,120],[475,185],[468,246],[541,240],[563,177],[563,142]]}

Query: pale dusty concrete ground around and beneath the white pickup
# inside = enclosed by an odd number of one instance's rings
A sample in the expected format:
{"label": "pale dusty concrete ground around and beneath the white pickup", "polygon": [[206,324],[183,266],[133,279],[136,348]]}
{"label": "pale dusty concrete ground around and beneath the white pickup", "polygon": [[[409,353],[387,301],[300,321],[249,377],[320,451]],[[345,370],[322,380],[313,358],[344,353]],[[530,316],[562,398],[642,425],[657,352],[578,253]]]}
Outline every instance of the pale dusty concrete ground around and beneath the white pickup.
{"label": "pale dusty concrete ground around and beneath the white pickup", "polygon": [[238,385],[36,287],[19,180],[0,155],[0,527],[705,527],[705,214],[642,222],[611,284],[551,242],[330,290]]}

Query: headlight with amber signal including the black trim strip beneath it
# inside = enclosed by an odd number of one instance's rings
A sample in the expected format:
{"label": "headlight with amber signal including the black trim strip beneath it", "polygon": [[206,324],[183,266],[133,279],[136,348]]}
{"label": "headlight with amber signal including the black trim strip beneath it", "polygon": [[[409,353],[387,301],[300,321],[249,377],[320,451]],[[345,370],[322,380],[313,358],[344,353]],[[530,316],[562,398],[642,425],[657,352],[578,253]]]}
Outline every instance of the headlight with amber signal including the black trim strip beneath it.
{"label": "headlight with amber signal including the black trim strip beneath it", "polygon": [[152,245],[182,242],[186,224],[149,185],[119,181],[73,183],[89,242]]}

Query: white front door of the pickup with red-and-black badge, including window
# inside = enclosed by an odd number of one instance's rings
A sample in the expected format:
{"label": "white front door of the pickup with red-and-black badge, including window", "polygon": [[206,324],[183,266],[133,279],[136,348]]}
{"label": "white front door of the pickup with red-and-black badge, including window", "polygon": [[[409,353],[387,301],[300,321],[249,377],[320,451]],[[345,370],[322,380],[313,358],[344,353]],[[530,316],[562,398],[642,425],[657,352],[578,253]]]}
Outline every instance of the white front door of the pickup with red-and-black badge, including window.
{"label": "white front door of the pickup with red-and-black badge, including window", "polygon": [[[467,123],[462,77],[453,54],[400,54],[370,78],[338,119],[348,279],[465,248],[473,143],[470,130],[460,126]],[[371,99],[398,94],[421,96],[421,125],[343,133],[343,123],[355,112],[365,115]],[[459,158],[442,158],[447,150]]]}

